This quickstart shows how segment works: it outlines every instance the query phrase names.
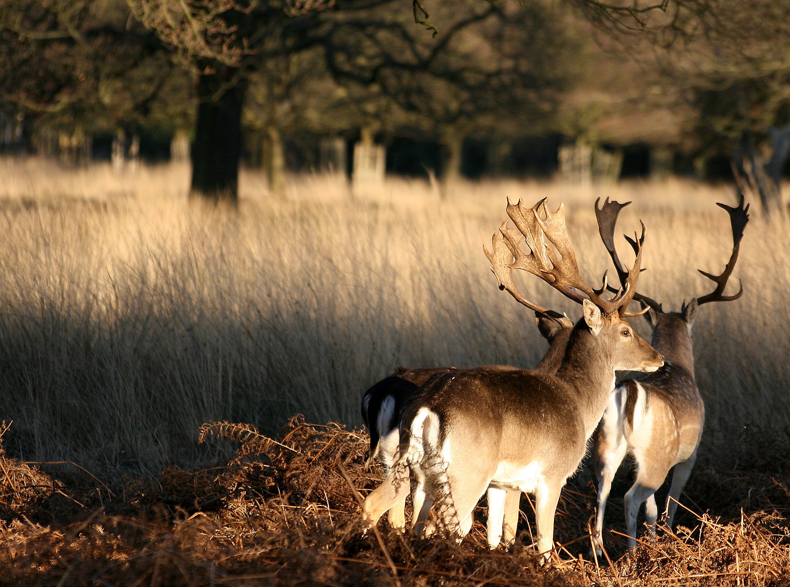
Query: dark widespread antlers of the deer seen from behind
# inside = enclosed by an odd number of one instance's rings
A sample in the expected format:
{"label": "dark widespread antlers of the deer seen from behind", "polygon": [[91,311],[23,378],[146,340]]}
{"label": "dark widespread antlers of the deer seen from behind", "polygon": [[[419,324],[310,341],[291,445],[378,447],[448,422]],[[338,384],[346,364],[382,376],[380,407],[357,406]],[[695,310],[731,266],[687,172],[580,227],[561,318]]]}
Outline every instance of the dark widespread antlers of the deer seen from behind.
{"label": "dark widespread antlers of the deer seen from behind", "polygon": [[[611,260],[615,264],[615,268],[617,269],[618,275],[622,281],[624,270],[623,265],[620,263],[619,257],[617,255],[617,251],[615,250],[614,232],[617,216],[619,215],[620,210],[625,208],[628,204],[630,204],[630,202],[620,204],[619,202],[610,202],[607,198],[600,209],[598,208],[599,202],[600,198],[596,200],[595,211],[596,218],[598,220],[598,230],[600,232],[600,237],[601,240],[604,241],[604,246],[608,250],[609,256],[611,256]],[[734,301],[743,295],[743,283],[740,284],[739,292],[732,296],[725,296],[724,289],[727,286],[727,281],[730,275],[732,275],[732,270],[735,268],[735,262],[738,260],[740,241],[741,238],[743,238],[743,229],[747,225],[747,222],[749,222],[749,205],[747,204],[744,206],[744,204],[745,199],[743,194],[740,196],[738,206],[731,207],[727,204],[716,204],[719,208],[724,208],[724,210],[726,210],[730,215],[730,226],[732,227],[732,254],[727,266],[724,267],[724,271],[722,271],[720,275],[711,275],[706,271],[702,271],[702,269],[698,269],[702,275],[705,275],[705,277],[716,283],[715,290],[697,298],[698,305],[707,304],[709,301]],[[626,236],[626,240],[634,249],[634,252],[636,252],[637,245],[634,239]],[[656,312],[664,311],[660,303],[641,293],[634,293],[634,300],[643,302],[645,305],[649,306],[649,308],[656,310]],[[686,304],[683,303],[682,311],[685,310],[685,308]]]}

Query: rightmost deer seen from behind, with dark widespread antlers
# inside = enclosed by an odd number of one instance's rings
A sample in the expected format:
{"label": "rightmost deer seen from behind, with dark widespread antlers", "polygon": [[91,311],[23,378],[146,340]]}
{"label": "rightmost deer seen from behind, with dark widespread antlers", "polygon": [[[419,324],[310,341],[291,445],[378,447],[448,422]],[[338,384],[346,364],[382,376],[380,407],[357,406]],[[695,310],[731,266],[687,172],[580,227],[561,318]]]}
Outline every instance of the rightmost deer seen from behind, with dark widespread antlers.
{"label": "rightmost deer seen from behind, with dark widespread antlers", "polygon": [[[599,209],[596,201],[600,236],[621,279],[626,271],[615,250],[614,231],[620,209],[628,204],[630,202],[619,204],[607,199]],[[692,299],[688,304],[683,302],[680,312],[664,312],[662,305],[653,299],[641,293],[634,294],[634,300],[649,308],[645,318],[653,327],[651,344],[664,355],[664,367],[647,376],[626,379],[620,383],[611,394],[609,405],[596,430],[593,459],[598,478],[596,551],[599,554],[603,545],[604,510],[611,480],[626,454],[633,455],[637,465],[636,481],[625,496],[629,546],[636,544],[637,514],[643,502],[647,523],[655,530],[658,517],[655,492],[674,466],[672,486],[664,508],[666,524],[672,527],[680,493],[697,458],[705,422],[705,406],[694,379],[691,327],[699,306],[711,301],[734,301],[743,294],[741,285],[735,295],[724,295],[727,280],[738,260],[743,228],[749,221],[749,207],[743,204],[743,196],[735,208],[717,204],[730,215],[733,245],[730,260],[720,275],[699,270],[716,283],[715,290]],[[635,248],[636,243],[628,240]]]}

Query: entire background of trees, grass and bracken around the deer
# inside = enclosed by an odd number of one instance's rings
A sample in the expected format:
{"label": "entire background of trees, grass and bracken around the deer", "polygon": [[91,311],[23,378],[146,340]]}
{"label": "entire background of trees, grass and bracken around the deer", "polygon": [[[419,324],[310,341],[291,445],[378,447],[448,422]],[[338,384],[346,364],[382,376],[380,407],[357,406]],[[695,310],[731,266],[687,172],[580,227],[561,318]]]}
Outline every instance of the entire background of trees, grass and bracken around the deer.
{"label": "entire background of trees, grass and bracken around the deer", "polygon": [[[0,582],[784,585],[788,11],[0,2]],[[526,498],[510,551],[480,524],[363,537],[363,391],[544,353],[482,252],[507,199],[564,202],[590,282],[593,203],[633,200],[640,290],[677,309],[728,259],[735,180],[744,294],[694,327],[707,420],[675,533],[625,552],[624,467],[613,564],[590,560],[584,464],[548,569]]]}

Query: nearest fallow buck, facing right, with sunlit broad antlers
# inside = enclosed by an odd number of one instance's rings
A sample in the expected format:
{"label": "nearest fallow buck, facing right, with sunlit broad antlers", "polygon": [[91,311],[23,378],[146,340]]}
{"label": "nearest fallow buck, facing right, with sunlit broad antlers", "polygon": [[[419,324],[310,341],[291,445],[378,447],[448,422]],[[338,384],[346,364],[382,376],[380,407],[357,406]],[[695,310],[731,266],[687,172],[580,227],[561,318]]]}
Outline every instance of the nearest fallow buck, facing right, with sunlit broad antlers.
{"label": "nearest fallow buck, facing right, with sunlit broad antlers", "polygon": [[[393,470],[367,495],[363,518],[375,525],[408,491],[407,467],[426,492],[414,527],[420,534],[437,498],[438,525],[463,537],[489,487],[489,499],[499,504],[509,490],[530,492],[536,497],[537,548],[548,556],[560,489],[585,455],[615,371],[655,371],[664,360],[623,320],[636,290],[644,225],[623,289],[608,299],[605,276],[600,290],[581,279],[562,206],[552,214],[545,200],[533,208],[509,203],[507,213],[516,228],[503,223],[492,239],[493,252],[486,251],[500,289],[535,309],[513,283],[513,269],[521,269],[583,307],[562,364],[555,375],[519,370],[431,379],[404,409]],[[529,252],[519,246],[522,236]]]}

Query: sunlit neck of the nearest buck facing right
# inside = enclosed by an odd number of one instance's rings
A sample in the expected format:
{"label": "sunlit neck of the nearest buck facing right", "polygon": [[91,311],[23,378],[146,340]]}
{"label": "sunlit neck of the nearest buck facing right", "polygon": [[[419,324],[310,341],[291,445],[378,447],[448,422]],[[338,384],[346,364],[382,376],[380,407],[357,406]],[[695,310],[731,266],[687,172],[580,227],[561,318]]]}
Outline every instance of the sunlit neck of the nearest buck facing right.
{"label": "sunlit neck of the nearest buck facing right", "polygon": [[570,333],[557,371],[557,377],[579,398],[578,408],[587,438],[598,425],[615,388],[615,366],[611,353],[603,347],[600,337],[593,336],[581,320]]}

